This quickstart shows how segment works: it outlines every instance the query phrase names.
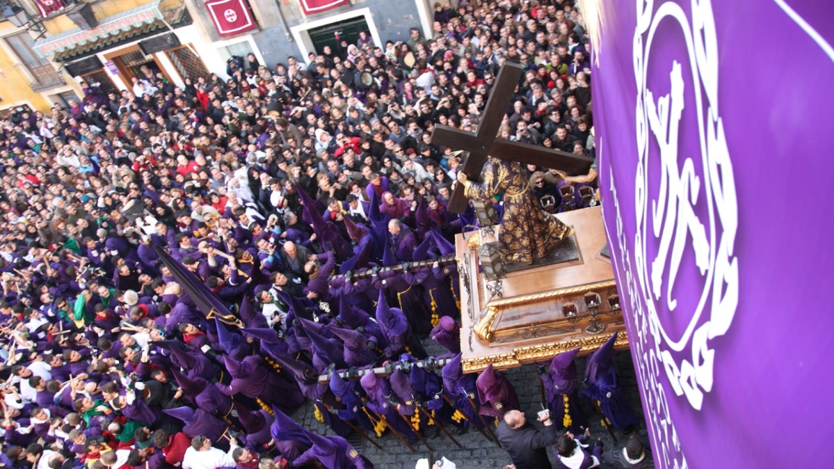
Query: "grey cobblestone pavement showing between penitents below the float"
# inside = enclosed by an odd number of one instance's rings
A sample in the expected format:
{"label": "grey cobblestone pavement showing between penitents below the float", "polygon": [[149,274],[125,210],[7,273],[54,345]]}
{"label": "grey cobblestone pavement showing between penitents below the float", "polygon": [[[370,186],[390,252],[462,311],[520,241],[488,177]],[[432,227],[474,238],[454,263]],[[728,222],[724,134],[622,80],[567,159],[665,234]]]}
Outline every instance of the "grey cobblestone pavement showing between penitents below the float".
{"label": "grey cobblestone pavement showing between penitents below the float", "polygon": [[[431,340],[424,340],[423,343],[426,350],[428,350],[433,356],[440,355],[447,351],[439,345],[436,345]],[[580,376],[580,378],[583,377],[585,373],[585,359],[585,356],[576,359],[577,376]],[[632,410],[638,417],[640,417],[638,435],[640,435],[643,440],[647,442],[646,422],[643,420],[643,412],[640,405],[640,391],[637,389],[636,376],[634,366],[631,362],[631,355],[628,350],[618,351],[615,354],[614,361],[616,364],[618,379],[620,381],[620,385],[623,386],[625,396],[629,400]],[[521,366],[520,368],[507,371],[506,376],[513,386],[515,386],[515,391],[518,393],[521,406],[520,410],[527,412],[528,419],[535,420],[535,412],[539,411],[541,408],[540,379],[536,373],[536,367]],[[590,423],[591,436],[594,439],[601,437],[605,443],[603,451],[604,462],[602,467],[610,467],[605,464],[605,459],[607,453],[609,453],[611,448],[615,446],[614,441],[611,439],[608,431],[605,430],[605,427],[600,425],[600,416],[596,413],[590,401],[586,399],[582,400],[582,411],[587,421]],[[304,408],[295,412],[293,418],[296,421],[299,421],[299,423],[304,425],[306,428],[317,431],[319,434],[324,432],[324,434],[332,435],[332,431],[329,431],[329,428],[315,420],[313,406],[309,403],[307,403]],[[537,423],[536,425],[540,424]],[[623,437],[622,432],[615,430],[615,436],[620,441],[620,447],[625,444],[625,437]],[[460,441],[461,446],[463,446],[462,448],[455,446],[452,441],[441,434],[440,436],[429,440],[429,444],[434,448],[434,451],[429,451],[418,441],[417,443],[414,443],[414,449],[417,450],[416,452],[409,451],[409,449],[397,440],[396,436],[392,435],[390,432],[386,433],[383,437],[376,439],[379,446],[382,446],[382,450],[375,448],[358,435],[352,435],[349,438],[349,441],[353,443],[362,454],[367,456],[369,460],[374,463],[374,467],[377,469],[411,469],[414,467],[414,464],[418,459],[428,457],[430,454],[432,454],[435,459],[445,456],[450,461],[455,462],[460,469],[499,469],[506,464],[510,464],[510,456],[507,455],[506,451],[497,446],[495,442],[486,440],[478,431],[470,430],[464,435],[455,436],[455,438]],[[552,448],[549,451],[549,456],[552,463],[554,461]]]}

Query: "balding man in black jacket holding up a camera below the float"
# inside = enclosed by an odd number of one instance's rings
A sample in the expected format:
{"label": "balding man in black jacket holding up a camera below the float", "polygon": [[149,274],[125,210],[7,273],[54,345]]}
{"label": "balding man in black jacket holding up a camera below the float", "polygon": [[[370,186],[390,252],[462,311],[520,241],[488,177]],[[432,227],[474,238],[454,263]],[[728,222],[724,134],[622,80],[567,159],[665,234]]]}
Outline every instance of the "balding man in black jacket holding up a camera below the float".
{"label": "balding man in black jacket holding up a camera below the float", "polygon": [[544,431],[527,423],[523,412],[508,411],[495,434],[501,446],[510,453],[515,469],[540,469],[550,467],[547,448],[556,441],[556,429],[550,421],[550,411],[540,411],[540,422]]}

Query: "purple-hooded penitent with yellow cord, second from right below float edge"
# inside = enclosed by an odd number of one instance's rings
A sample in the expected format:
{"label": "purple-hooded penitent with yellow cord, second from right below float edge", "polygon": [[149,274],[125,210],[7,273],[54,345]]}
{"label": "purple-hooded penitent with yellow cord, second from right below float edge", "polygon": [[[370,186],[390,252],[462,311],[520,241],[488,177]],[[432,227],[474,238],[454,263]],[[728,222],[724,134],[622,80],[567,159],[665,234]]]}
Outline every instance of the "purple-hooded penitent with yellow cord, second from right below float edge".
{"label": "purple-hooded penitent with yellow cord, second from right below float edge", "polygon": [[541,376],[542,386],[550,407],[550,416],[556,426],[568,428],[575,435],[580,435],[585,426],[585,416],[579,408],[579,393],[576,389],[576,364],[574,357],[580,348],[569,350],[553,357],[550,368]]}

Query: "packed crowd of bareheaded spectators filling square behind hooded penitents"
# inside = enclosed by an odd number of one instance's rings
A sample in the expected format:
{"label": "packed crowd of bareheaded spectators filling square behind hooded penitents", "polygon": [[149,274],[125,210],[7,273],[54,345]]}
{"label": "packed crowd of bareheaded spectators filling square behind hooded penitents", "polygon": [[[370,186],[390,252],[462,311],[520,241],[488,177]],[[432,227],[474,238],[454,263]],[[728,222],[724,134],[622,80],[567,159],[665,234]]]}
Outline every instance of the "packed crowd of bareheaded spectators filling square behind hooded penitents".
{"label": "packed crowd of bareheaded spectators filling square behind hooded penitents", "polygon": [[[309,63],[262,64],[250,53],[183,87],[143,66],[127,89],[85,81],[81,100],[0,121],[0,374],[3,427],[17,438],[3,444],[7,465],[51,448],[38,468],[83,455],[137,466],[146,448],[170,446],[178,428],[160,419],[143,432],[123,409],[142,399],[140,381],[170,387],[160,409],[193,406],[177,391],[171,352],[153,343],[216,349],[217,330],[195,316],[154,247],[227,304],[254,300],[283,336],[297,326],[284,294],[311,320],[338,309],[331,276],[362,254],[372,213],[391,220],[380,244],[393,242],[397,263],[425,237],[418,207],[438,237],[465,229],[445,210],[464,155],[431,134],[477,129],[503,63],[525,73],[499,136],[594,156],[590,53],[572,1],[436,3],[433,20],[430,38],[420,28],[404,42],[336,37]],[[527,169],[543,209],[589,203],[585,184],[570,182],[581,175]],[[365,252],[362,265],[383,265],[381,252]],[[365,296],[355,306],[373,315]],[[87,431],[93,416],[103,416],[104,439]],[[107,447],[125,442],[130,461],[115,461]]]}

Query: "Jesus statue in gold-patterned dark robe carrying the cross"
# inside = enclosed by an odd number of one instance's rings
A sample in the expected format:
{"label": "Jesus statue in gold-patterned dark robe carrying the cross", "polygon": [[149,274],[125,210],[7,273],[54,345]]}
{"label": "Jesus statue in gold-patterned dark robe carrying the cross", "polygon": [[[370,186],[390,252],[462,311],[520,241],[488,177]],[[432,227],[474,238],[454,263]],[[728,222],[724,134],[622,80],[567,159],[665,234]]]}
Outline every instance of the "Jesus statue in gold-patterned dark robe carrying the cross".
{"label": "Jesus statue in gold-patterned dark robe carrying the cross", "polygon": [[464,194],[470,199],[490,199],[504,193],[498,250],[505,263],[532,264],[570,236],[566,224],[541,209],[519,163],[490,157],[480,179],[480,183],[470,181],[458,171],[458,182],[465,185]]}

